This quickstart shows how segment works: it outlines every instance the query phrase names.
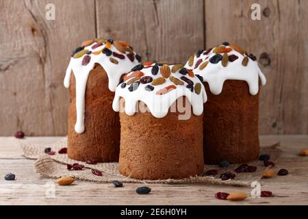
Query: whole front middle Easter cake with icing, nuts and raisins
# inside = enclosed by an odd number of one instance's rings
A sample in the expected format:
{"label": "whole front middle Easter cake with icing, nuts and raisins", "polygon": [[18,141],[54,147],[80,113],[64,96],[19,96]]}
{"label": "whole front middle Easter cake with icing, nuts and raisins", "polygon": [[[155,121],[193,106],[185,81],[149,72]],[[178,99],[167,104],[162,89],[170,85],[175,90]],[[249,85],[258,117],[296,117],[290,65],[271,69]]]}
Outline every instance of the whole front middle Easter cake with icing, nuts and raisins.
{"label": "whole front middle Easter cake with icing, nuts and raisins", "polygon": [[120,112],[122,175],[181,179],[203,171],[207,96],[201,80],[182,64],[158,62],[140,64],[123,77],[112,105]]}

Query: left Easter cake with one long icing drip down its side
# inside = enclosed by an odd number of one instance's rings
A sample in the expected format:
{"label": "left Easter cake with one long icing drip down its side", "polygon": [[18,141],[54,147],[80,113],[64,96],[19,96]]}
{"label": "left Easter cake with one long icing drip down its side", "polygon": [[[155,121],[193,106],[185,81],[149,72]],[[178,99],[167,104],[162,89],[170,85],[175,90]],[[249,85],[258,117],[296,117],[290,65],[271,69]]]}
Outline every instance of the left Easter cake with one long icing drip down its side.
{"label": "left Easter cake with one long icing drip down its side", "polygon": [[70,91],[68,157],[118,161],[120,121],[112,110],[120,77],[141,61],[127,42],[95,39],[72,54],[64,86]]}

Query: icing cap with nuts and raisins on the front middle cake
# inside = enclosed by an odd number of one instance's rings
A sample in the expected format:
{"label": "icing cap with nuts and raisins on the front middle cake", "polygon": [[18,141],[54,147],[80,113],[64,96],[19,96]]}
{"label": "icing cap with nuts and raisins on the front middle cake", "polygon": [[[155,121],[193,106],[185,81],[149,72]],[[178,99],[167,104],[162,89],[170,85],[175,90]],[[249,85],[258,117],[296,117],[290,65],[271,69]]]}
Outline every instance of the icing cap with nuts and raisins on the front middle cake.
{"label": "icing cap with nuts and raisins on the front middle cake", "polygon": [[184,68],[183,64],[145,62],[134,66],[131,72],[122,77],[116,88],[113,108],[120,111],[119,100],[123,97],[128,115],[133,115],[136,104],[142,101],[153,116],[161,118],[166,116],[172,103],[185,96],[190,101],[194,114],[200,115],[206,101],[202,80],[201,76],[197,77],[192,70]]}

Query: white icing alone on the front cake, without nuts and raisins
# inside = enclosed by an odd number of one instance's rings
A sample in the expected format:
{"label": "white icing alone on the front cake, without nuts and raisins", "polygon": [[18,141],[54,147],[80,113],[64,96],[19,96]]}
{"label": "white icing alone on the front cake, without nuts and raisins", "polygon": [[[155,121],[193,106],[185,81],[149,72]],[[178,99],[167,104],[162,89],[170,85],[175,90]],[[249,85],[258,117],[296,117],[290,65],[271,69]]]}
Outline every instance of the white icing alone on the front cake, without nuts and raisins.
{"label": "white icing alone on the front cake, without nuts and raisins", "polygon": [[[149,68],[143,68],[141,71],[144,73],[144,76],[151,76],[153,79],[157,79],[158,77],[162,77],[162,74],[159,72],[157,75],[152,75],[151,69],[154,64],[151,65]],[[170,66],[170,69],[172,68],[172,65]],[[133,73],[133,72],[131,72]],[[130,75],[131,73],[127,74]],[[196,83],[201,83],[201,81],[198,79],[198,77],[190,77],[188,75],[181,75],[179,73],[179,70],[176,73],[170,73],[170,76],[176,77],[177,79],[180,79],[182,76],[187,77],[191,81],[194,82],[194,85]],[[181,80],[181,79],[180,79]],[[126,80],[126,82],[129,81]],[[125,82],[123,82],[125,83]],[[129,116],[132,116],[136,113],[136,110],[138,108],[136,105],[138,104],[138,101],[142,101],[142,103],[145,103],[148,107],[149,111],[153,116],[156,118],[163,118],[168,114],[168,110],[172,103],[175,103],[177,99],[181,96],[185,96],[188,101],[190,101],[192,105],[192,112],[196,116],[200,116],[203,113],[203,103],[207,101],[207,95],[205,93],[205,88],[203,87],[203,84],[201,83],[201,92],[200,94],[196,94],[196,92],[190,91],[190,89],[186,88],[188,83],[184,81],[184,85],[177,85],[175,89],[170,90],[166,94],[156,94],[157,90],[161,90],[166,88],[167,86],[175,86],[175,83],[170,81],[169,78],[166,79],[165,83],[162,83],[157,86],[153,86],[153,91],[145,90],[145,87],[151,85],[151,83],[140,83],[137,90],[129,91],[129,85],[127,85],[125,88],[121,88],[121,84],[116,88],[116,94],[114,96],[114,102],[112,104],[112,108],[114,111],[119,112],[120,111],[120,97],[123,97],[125,99],[125,113]],[[172,111],[171,111],[172,112]]]}

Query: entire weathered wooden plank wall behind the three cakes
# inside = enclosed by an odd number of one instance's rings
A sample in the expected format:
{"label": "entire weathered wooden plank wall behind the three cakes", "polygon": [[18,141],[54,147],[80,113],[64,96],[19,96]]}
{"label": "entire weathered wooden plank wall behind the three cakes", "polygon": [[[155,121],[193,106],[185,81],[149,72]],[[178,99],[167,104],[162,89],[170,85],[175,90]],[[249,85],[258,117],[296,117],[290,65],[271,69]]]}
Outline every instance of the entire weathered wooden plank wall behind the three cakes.
{"label": "entire weathered wooden plank wall behind the three cakes", "polygon": [[[55,21],[45,6],[55,4]],[[261,20],[251,20],[251,5]],[[223,41],[254,53],[268,79],[261,134],[308,134],[308,1],[0,0],[0,136],[66,135],[70,53],[83,40],[126,40],[144,60],[185,62]]]}

